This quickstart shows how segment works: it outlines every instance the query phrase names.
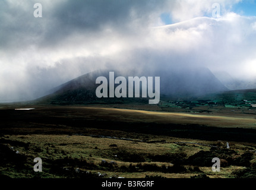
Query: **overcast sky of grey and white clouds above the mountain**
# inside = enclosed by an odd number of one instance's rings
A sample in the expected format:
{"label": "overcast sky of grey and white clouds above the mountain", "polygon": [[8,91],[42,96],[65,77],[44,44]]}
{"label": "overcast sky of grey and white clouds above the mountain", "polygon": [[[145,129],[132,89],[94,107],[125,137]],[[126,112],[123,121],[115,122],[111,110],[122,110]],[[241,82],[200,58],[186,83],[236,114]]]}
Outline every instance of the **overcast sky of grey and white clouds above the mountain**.
{"label": "overcast sky of grey and white clouds above the mountain", "polygon": [[[34,17],[35,3],[42,18]],[[219,16],[216,7],[219,5]],[[0,1],[0,102],[99,68],[206,66],[256,78],[256,2]]]}

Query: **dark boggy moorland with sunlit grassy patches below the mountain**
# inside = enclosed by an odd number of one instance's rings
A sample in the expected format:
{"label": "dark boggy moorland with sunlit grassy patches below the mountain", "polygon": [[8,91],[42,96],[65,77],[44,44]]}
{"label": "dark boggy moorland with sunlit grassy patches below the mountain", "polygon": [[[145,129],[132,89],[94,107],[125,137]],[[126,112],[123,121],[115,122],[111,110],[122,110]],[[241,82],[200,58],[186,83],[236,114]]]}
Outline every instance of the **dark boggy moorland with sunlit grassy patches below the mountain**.
{"label": "dark boggy moorland with sunlit grassy patches below the mountain", "polygon": [[[2,177],[256,177],[255,115],[17,106],[0,109]],[[33,170],[36,157],[43,172]],[[213,157],[220,172],[211,170]]]}

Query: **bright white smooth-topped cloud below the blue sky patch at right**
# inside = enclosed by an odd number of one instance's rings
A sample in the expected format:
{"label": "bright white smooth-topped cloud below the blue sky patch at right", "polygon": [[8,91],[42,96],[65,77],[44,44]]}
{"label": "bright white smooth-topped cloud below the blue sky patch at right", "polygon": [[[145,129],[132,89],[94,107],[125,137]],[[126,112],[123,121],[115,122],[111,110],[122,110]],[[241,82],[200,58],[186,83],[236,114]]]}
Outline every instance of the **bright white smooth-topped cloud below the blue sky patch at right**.
{"label": "bright white smooth-topped cloud below the blue sky patch at right", "polygon": [[[200,17],[153,32],[157,46],[169,62],[175,56],[181,64],[207,66],[211,70],[225,69],[235,77],[256,77],[254,70],[244,72],[245,61],[255,59],[255,17],[229,13],[219,19]],[[167,53],[170,52],[170,53]],[[174,54],[174,55],[173,55]],[[175,60],[175,59],[174,59]]]}

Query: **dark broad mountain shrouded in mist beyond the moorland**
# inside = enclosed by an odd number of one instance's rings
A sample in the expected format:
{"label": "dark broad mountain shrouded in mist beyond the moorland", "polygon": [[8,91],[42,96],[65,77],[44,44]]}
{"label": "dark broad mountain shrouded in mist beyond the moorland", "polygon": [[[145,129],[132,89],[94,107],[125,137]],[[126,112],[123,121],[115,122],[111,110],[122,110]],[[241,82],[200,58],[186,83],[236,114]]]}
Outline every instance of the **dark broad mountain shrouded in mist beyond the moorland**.
{"label": "dark broad mountain shrouded in mist beyond the moorland", "polygon": [[[228,90],[208,68],[173,68],[143,71],[118,71],[115,69],[93,71],[74,80],[59,85],[55,92],[37,99],[50,104],[89,104],[89,103],[146,103],[148,98],[98,98],[96,97],[96,78],[103,76],[109,81],[109,72],[115,72],[115,78],[160,77],[161,97],[196,97],[203,94]],[[115,87],[119,85],[116,84]],[[127,85],[128,86],[128,85]]]}

